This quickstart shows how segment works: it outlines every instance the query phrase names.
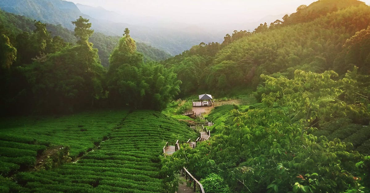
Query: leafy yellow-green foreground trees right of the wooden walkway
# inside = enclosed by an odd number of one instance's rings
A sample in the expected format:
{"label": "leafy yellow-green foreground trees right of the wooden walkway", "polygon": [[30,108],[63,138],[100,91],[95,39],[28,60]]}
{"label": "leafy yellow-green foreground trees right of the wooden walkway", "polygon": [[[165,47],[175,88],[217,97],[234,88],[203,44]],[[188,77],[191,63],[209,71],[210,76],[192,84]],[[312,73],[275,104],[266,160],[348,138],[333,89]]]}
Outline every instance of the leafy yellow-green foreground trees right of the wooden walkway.
{"label": "leafy yellow-green foreground trees right of the wooden walkway", "polygon": [[[357,164],[364,162],[363,155],[351,143],[312,135],[319,124],[339,118],[369,122],[369,102],[341,99],[343,88],[354,81],[349,74],[343,79],[333,71],[296,70],[292,79],[261,75],[265,82],[256,92],[261,105],[232,110],[212,130],[210,142],[163,162],[174,170],[186,166],[199,178],[218,173],[232,192],[360,191],[368,185],[369,166]],[[171,175],[172,168],[162,171]]]}

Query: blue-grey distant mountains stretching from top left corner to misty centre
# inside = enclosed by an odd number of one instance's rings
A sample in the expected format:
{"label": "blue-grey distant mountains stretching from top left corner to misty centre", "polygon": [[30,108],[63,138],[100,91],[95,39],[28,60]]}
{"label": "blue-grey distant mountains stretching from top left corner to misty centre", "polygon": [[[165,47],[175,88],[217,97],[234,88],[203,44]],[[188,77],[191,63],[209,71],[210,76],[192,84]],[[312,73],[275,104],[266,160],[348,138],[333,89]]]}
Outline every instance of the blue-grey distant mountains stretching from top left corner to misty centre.
{"label": "blue-grey distant mountains stretching from top left corner to misty centre", "polygon": [[[94,14],[94,16],[85,15],[81,13],[74,3],[64,0],[6,0],[0,2],[0,9],[40,20],[43,23],[61,24],[69,30],[73,30],[71,21],[74,21],[79,16],[88,18],[95,32],[101,32],[106,35],[120,36],[125,28],[130,28],[132,37],[135,40],[165,50],[172,55],[188,50],[192,45],[201,41],[218,40],[218,38],[202,30],[133,25],[129,23],[129,20],[121,20],[120,23],[107,21],[107,18],[101,17],[99,14]],[[94,13],[94,11],[89,13]]]}

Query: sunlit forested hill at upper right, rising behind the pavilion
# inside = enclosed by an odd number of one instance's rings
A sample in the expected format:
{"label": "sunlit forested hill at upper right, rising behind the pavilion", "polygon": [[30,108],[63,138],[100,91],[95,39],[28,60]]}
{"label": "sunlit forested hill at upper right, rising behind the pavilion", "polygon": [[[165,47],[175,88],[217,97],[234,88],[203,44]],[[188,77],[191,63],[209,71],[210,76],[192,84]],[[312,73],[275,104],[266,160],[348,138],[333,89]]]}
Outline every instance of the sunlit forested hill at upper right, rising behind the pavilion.
{"label": "sunlit forested hill at upper right, rising behind the pavilion", "polygon": [[283,21],[261,24],[253,33],[234,31],[222,44],[201,43],[164,64],[179,74],[185,95],[197,89],[255,88],[260,74],[293,77],[296,69],[334,70],[343,75],[357,65],[366,72],[367,54],[354,57],[350,45],[360,42],[347,39],[366,29],[369,22],[369,6],[360,1],[317,1],[299,7]]}

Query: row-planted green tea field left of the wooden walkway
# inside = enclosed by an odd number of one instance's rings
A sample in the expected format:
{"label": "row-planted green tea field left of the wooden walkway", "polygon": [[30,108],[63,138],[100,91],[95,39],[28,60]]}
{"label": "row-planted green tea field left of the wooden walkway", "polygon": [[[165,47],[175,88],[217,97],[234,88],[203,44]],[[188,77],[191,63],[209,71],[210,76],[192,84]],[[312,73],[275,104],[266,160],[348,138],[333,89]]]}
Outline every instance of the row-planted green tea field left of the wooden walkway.
{"label": "row-planted green tea field left of the wooden walkway", "polygon": [[[185,123],[155,111],[2,123],[0,192],[163,192],[159,156],[164,143],[196,138]],[[94,143],[97,148],[78,157]],[[16,173],[24,164],[19,160],[33,165],[37,152],[53,145],[69,146],[70,156],[78,160],[55,169]]]}

